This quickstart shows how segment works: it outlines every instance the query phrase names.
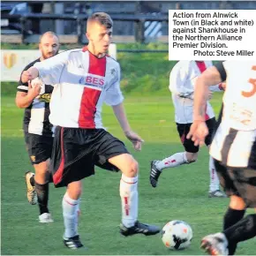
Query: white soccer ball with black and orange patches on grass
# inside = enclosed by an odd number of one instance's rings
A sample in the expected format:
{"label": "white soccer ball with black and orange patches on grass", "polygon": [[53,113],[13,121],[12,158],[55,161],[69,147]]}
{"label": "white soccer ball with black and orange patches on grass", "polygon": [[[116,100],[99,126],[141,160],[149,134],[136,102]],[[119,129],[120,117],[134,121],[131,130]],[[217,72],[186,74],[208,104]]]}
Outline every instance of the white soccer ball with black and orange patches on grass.
{"label": "white soccer ball with black and orange patches on grass", "polygon": [[162,243],[171,250],[187,248],[192,241],[192,228],[183,221],[168,222],[162,228]]}

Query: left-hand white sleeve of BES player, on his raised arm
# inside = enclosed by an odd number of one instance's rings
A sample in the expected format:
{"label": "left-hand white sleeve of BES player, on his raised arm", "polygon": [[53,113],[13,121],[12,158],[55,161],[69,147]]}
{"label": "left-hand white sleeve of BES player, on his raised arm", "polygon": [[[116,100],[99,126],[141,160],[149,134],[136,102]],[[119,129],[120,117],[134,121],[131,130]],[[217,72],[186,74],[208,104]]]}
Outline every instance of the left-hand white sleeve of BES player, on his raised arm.
{"label": "left-hand white sleeve of BES player, on his raised arm", "polygon": [[59,83],[64,66],[68,63],[70,52],[67,50],[34,64],[39,72],[39,78],[44,84],[54,86]]}

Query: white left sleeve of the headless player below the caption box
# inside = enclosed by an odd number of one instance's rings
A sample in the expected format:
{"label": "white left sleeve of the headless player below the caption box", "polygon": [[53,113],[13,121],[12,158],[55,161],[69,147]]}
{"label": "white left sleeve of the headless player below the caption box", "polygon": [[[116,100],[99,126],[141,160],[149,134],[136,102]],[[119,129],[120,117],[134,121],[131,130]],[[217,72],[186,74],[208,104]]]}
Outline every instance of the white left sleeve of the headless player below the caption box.
{"label": "white left sleeve of the headless player below the caption box", "polygon": [[[182,98],[192,98],[193,89],[185,86],[187,82],[189,67],[174,66],[169,74],[169,91]],[[190,81],[189,81],[190,82]]]}

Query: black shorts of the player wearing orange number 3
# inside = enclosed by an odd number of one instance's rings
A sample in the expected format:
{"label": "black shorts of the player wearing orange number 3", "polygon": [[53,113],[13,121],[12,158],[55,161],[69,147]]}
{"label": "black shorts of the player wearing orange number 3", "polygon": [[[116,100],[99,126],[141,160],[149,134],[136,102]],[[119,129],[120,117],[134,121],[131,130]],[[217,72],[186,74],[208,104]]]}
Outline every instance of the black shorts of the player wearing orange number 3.
{"label": "black shorts of the player wearing orange number 3", "polygon": [[217,160],[215,169],[228,196],[237,195],[245,200],[246,207],[256,207],[256,169],[230,168]]}

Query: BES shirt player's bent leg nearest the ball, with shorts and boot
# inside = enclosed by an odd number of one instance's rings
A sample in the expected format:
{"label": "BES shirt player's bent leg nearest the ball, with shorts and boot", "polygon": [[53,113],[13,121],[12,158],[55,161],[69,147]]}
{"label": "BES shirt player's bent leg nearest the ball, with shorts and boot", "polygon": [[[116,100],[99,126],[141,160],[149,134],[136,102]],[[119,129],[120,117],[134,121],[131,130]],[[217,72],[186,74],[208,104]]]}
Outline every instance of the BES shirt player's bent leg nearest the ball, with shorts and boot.
{"label": "BES shirt player's bent leg nearest the ball, with shorts and boot", "polygon": [[124,236],[159,233],[158,227],[138,222],[138,162],[129,154],[124,143],[104,130],[96,134],[98,147],[94,163],[102,169],[122,171],[119,192],[122,206],[120,232]]}

